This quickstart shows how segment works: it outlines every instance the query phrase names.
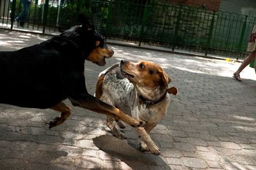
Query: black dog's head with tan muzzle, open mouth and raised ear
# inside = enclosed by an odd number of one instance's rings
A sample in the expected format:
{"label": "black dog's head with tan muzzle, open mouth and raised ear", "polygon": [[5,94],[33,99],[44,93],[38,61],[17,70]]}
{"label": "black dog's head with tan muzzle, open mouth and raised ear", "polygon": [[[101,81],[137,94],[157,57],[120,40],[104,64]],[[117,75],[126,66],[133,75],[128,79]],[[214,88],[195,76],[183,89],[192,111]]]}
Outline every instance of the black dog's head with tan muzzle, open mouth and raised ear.
{"label": "black dog's head with tan muzzle, open mouth and raised ear", "polygon": [[89,20],[83,14],[79,14],[78,21],[82,25],[64,31],[61,36],[74,41],[83,51],[86,60],[104,66],[106,64],[105,59],[113,56],[113,50],[106,45],[102,34],[93,29]]}

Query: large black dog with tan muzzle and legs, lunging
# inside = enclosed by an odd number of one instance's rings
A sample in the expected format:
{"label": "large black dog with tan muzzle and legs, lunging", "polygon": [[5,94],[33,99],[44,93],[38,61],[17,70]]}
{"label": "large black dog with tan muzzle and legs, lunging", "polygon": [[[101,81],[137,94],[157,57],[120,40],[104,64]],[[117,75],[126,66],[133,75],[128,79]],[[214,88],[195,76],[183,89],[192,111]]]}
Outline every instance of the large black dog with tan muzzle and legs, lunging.
{"label": "large black dog with tan muzzle and legs, lunging", "polygon": [[15,52],[0,52],[0,103],[60,111],[49,128],[62,124],[71,114],[71,108],[62,103],[67,98],[74,106],[113,115],[134,127],[142,125],[88,94],[84,60],[104,66],[105,58],[114,52],[84,15],[80,14],[78,20],[82,25],[60,36]]}

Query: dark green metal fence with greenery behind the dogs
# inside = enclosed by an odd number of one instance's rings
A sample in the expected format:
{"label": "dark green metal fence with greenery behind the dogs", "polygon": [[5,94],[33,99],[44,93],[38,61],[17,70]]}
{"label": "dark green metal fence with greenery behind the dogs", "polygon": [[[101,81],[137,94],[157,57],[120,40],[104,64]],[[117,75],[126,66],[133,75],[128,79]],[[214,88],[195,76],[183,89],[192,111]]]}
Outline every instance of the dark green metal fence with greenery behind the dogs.
{"label": "dark green metal fence with greenery behind the dogs", "polygon": [[[32,0],[33,1],[33,0]],[[84,13],[108,39],[243,58],[256,17],[209,11],[156,0],[35,0],[26,23],[17,25],[21,0],[0,3],[0,26],[39,32],[77,24]]]}

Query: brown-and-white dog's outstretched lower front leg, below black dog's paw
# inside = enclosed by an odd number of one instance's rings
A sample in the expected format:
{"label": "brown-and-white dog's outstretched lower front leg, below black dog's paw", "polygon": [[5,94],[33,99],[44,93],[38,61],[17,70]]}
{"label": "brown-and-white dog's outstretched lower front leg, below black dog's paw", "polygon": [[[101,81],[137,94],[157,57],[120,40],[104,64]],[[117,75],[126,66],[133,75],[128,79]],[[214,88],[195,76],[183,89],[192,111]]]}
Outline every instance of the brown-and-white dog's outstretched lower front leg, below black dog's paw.
{"label": "brown-and-white dog's outstretched lower front leg, below black dog's paw", "polygon": [[156,144],[152,141],[147,131],[143,127],[136,127],[135,129],[138,132],[138,134],[140,134],[141,140],[144,141],[145,144],[147,145],[148,151],[151,153],[154,153],[155,155],[159,155],[160,150],[156,146]]}

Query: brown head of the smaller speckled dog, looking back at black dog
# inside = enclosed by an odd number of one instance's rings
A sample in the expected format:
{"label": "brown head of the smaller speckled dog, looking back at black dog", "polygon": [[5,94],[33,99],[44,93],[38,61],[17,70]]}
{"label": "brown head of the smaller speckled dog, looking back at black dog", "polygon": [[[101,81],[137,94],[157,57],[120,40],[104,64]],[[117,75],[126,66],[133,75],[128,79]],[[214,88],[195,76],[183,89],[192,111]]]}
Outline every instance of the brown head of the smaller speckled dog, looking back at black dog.
{"label": "brown head of the smaller speckled dog, looking back at black dog", "polygon": [[172,81],[170,76],[164,72],[162,67],[154,62],[141,61],[134,63],[121,60],[120,69],[125,78],[138,87],[145,87],[147,89],[163,87],[169,94],[176,95],[178,93],[176,87],[168,89],[168,83]]}

